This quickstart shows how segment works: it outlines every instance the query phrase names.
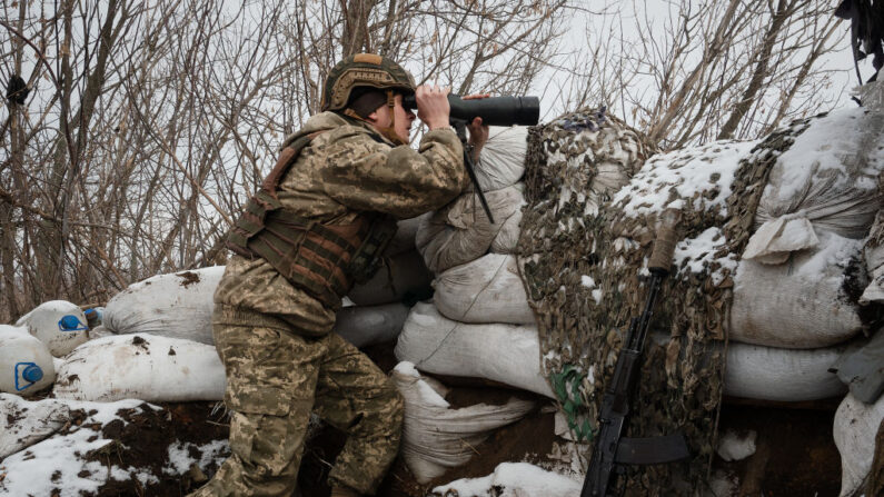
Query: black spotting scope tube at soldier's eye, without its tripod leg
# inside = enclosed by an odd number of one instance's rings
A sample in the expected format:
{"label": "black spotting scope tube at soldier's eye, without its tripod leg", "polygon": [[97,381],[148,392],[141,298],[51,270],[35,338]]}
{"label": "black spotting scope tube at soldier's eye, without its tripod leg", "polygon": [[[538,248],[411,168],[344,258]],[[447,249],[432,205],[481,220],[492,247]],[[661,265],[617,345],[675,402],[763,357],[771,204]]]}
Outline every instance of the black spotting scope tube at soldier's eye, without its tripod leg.
{"label": "black spotting scope tube at soldier's eye, without its tripod leg", "polygon": [[[488,97],[464,100],[457,95],[448,95],[451,119],[473,122],[481,118],[485,126],[535,126],[540,119],[540,99],[537,97]],[[417,109],[414,95],[403,97],[403,107]]]}

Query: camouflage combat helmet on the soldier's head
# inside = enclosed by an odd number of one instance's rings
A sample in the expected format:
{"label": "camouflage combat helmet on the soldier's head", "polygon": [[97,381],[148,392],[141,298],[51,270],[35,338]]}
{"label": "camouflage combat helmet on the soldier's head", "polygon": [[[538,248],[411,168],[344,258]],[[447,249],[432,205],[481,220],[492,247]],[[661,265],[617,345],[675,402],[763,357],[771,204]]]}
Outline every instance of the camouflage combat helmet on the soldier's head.
{"label": "camouflage combat helmet on the soldier's head", "polygon": [[341,110],[347,107],[355,88],[370,87],[379,90],[415,92],[415,79],[401,66],[375,53],[356,53],[338,62],[322,86],[322,110]]}

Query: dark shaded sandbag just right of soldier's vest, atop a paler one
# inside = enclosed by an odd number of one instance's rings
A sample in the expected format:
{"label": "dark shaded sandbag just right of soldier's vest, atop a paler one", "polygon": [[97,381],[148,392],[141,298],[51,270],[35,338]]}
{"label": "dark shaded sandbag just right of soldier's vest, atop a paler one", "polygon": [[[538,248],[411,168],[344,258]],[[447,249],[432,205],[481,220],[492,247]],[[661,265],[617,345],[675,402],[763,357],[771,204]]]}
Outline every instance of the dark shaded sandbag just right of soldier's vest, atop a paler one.
{"label": "dark shaded sandbag just right of soldier's vest, atop a paler one", "polygon": [[384,258],[375,276],[356,285],[347,297],[357,306],[411,302],[431,295],[433,274],[416,250]]}

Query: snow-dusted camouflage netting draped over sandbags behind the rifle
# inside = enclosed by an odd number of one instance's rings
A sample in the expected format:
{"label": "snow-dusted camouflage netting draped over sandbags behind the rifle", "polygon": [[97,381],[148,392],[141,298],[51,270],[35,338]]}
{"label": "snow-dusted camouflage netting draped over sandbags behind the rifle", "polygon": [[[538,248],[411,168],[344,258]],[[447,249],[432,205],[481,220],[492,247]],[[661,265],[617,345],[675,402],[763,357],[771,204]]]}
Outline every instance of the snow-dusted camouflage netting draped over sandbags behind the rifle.
{"label": "snow-dusted camouflage netting draped over sandbags behind the rifle", "polygon": [[[659,215],[681,210],[677,270],[657,300],[658,339],[646,345],[627,435],[682,431],[694,457],[630,468],[627,495],[693,495],[708,478],[731,275],[771,168],[808,121],[769,136],[748,155],[753,143],[718,142],[652,159],[640,172],[653,147],[604,110],[577,111],[529,135],[519,268],[537,315],[544,370],[577,436],[592,439],[629,318],[644,306]],[[722,156],[732,157],[732,169],[713,167]],[[738,167],[737,156],[745,157]],[[696,181],[683,172],[688,163],[708,163],[714,172]],[[614,169],[624,177],[610,181]],[[634,175],[633,187],[622,188]]]}

